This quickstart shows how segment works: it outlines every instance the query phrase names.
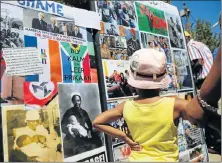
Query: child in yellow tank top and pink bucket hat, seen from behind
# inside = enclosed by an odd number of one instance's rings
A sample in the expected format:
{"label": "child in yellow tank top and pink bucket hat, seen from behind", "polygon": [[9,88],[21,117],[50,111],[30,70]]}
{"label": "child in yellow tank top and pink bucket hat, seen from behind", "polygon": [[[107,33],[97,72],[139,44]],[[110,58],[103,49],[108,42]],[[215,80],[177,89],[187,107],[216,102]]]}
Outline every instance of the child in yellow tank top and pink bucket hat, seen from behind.
{"label": "child in yellow tank top and pink bucket hat, seen from behind", "polygon": [[[166,56],[155,49],[140,49],[130,60],[128,83],[137,89],[138,97],[101,113],[93,126],[124,140],[132,152],[129,161],[179,161],[177,125],[179,118],[200,122],[204,111],[186,100],[160,97],[160,89],[171,83],[166,73]],[[106,124],[123,117],[132,138]]]}

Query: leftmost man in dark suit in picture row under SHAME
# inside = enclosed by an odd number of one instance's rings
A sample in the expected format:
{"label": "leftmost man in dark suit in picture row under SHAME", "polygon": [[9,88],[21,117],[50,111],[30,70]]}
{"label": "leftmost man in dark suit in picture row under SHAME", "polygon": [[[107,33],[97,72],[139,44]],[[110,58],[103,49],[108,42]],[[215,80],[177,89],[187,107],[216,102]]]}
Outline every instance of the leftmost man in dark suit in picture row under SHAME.
{"label": "leftmost man in dark suit in picture row under SHAME", "polygon": [[47,31],[47,23],[44,21],[44,13],[39,12],[38,18],[32,19],[32,28]]}

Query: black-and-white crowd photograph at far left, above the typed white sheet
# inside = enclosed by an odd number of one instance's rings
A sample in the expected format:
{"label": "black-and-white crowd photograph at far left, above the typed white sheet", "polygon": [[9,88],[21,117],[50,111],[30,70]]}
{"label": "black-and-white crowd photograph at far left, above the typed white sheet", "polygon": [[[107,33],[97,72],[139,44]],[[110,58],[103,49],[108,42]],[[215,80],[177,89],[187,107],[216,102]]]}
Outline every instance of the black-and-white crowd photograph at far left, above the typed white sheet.
{"label": "black-and-white crowd photograph at far left, above the typed white sheet", "polygon": [[24,47],[23,8],[1,3],[1,47]]}

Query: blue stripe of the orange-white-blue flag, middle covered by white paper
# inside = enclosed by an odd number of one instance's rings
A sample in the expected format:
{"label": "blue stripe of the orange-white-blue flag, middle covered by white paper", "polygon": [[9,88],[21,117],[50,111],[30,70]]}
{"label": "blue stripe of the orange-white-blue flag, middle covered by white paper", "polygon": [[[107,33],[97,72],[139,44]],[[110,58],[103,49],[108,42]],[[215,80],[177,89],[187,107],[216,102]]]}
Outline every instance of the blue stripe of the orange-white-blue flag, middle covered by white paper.
{"label": "blue stripe of the orange-white-blue flag, middle covered by white paper", "polygon": [[[33,36],[24,37],[25,47],[36,47],[37,48],[37,38]],[[39,81],[39,75],[29,75],[25,77],[25,81]]]}

